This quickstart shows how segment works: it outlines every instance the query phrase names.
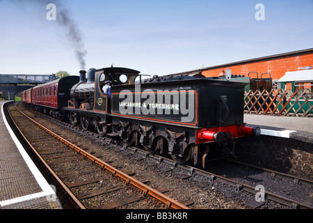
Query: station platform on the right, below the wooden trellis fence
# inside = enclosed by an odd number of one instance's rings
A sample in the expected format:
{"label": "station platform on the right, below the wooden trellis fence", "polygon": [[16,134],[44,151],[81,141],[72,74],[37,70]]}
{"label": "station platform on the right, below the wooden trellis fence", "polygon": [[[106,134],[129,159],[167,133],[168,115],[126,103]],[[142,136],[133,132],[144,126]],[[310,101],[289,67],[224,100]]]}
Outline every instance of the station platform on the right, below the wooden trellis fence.
{"label": "station platform on the right, below the wooden trellis fence", "polygon": [[261,128],[261,134],[296,139],[313,144],[313,117],[268,116],[244,114],[247,126]]}

